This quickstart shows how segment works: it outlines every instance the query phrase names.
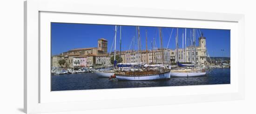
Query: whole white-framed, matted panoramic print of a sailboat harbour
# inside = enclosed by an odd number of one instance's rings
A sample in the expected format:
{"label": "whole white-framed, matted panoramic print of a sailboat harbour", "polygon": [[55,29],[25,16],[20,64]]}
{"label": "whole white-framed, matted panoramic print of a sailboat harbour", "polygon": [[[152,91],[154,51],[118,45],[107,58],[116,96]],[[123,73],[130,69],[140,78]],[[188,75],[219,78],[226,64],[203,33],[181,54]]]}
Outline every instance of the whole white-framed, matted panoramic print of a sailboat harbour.
{"label": "whole white-framed, matted panoramic print of a sailboat harbour", "polygon": [[26,113],[244,98],[241,14],[24,4]]}

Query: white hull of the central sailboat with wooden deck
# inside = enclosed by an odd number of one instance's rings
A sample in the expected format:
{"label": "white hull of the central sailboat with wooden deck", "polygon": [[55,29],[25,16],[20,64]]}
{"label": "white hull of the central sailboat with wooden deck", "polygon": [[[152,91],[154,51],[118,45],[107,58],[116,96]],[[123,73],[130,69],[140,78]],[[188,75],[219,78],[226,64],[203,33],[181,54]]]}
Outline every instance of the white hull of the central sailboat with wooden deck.
{"label": "white hull of the central sailboat with wooden deck", "polygon": [[149,76],[119,76],[116,74],[118,80],[141,81],[141,80],[160,80],[170,78],[170,72],[163,74],[149,75]]}

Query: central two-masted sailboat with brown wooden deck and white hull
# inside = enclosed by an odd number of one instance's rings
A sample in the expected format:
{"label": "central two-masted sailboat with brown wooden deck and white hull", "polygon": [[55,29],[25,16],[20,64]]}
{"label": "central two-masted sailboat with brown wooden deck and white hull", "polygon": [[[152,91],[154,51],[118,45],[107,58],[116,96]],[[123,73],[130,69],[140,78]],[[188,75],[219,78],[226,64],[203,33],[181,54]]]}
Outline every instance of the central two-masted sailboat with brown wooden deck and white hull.
{"label": "central two-masted sailboat with brown wooden deck and white hull", "polygon": [[[140,41],[140,29],[138,29],[138,41]],[[161,47],[162,47],[162,33],[161,28],[159,27],[159,33],[161,38]],[[146,33],[147,34],[147,33]],[[147,40],[147,35],[146,35]],[[139,42],[138,42],[139,45]],[[146,46],[147,47],[147,46]],[[139,48],[138,48],[139,49]],[[163,49],[163,48],[162,48]],[[147,50],[147,48],[146,48]],[[148,51],[146,51],[148,52]],[[162,51],[163,57],[163,51]],[[162,63],[164,60],[162,60]],[[142,63],[142,62],[141,62]],[[148,65],[141,63],[119,63],[119,66],[131,67],[131,68],[139,68],[138,70],[120,70],[114,74],[113,77],[118,80],[126,80],[126,81],[143,81],[143,80],[160,80],[160,79],[168,79],[170,78],[170,70],[163,64],[152,64]]]}

